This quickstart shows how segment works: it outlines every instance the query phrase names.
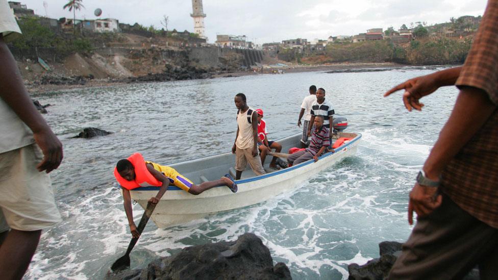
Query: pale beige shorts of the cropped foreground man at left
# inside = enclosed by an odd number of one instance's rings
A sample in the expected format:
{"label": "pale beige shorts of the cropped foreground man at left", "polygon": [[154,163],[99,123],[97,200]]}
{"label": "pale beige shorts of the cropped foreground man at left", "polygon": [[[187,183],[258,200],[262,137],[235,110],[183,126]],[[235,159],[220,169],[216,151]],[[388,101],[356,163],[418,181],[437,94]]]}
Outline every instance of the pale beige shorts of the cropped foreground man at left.
{"label": "pale beige shorts of the cropped foreground man at left", "polygon": [[0,154],[0,232],[37,231],[61,221],[50,177],[36,169],[42,159],[36,144]]}

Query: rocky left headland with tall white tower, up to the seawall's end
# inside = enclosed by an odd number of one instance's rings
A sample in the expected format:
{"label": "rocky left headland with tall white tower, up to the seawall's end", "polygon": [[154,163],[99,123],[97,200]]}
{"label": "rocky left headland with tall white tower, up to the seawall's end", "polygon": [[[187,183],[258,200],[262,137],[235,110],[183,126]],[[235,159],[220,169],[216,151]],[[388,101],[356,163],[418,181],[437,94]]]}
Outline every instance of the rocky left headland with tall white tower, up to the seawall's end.
{"label": "rocky left headland with tall white tower, up to the seawall's end", "polygon": [[112,18],[41,17],[26,5],[9,2],[23,32],[9,47],[28,86],[78,84],[92,79],[198,79],[249,69],[263,61],[261,51],[252,47],[206,43],[202,1],[193,4],[191,33],[146,28]]}

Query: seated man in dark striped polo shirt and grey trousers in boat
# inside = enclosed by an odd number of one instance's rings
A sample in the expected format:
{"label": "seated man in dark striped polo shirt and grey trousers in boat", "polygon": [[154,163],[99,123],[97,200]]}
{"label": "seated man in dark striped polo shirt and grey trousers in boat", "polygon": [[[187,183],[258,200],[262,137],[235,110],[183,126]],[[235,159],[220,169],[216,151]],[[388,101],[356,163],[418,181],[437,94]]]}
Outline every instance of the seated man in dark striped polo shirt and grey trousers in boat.
{"label": "seated man in dark striped polo shirt and grey trousers in boat", "polygon": [[287,158],[289,166],[300,164],[311,159],[317,162],[318,157],[321,156],[323,151],[330,146],[329,138],[329,129],[323,125],[323,117],[320,115],[315,116],[313,120],[313,127],[311,129],[310,145],[304,150],[291,154]]}

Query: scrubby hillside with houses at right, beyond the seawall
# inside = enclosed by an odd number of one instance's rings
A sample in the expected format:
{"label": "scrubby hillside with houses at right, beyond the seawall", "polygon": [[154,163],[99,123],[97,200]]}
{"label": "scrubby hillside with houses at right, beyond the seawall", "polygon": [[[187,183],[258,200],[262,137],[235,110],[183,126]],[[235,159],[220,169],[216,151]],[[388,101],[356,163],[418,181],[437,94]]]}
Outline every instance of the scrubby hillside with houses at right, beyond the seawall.
{"label": "scrubby hillside with houses at right, beyond the seawall", "polygon": [[353,36],[327,39],[297,38],[266,43],[264,52],[287,62],[307,64],[342,62],[394,62],[410,65],[460,64],[465,61],[481,16],[451,18],[426,26],[416,22],[399,30],[369,29]]}

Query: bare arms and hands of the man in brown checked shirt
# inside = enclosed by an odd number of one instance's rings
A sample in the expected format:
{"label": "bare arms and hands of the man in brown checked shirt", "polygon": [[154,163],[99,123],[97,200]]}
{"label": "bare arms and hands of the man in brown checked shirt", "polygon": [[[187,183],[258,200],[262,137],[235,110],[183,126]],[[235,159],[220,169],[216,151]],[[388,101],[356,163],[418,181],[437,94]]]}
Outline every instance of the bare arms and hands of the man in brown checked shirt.
{"label": "bare arms and hands of the man in brown checked shirt", "polygon": [[[456,67],[408,80],[387,91],[384,96],[405,89],[403,94],[405,107],[409,111],[411,108],[421,110],[424,105],[418,100],[422,96],[431,94],[440,86],[454,84],[460,70],[461,67]],[[443,168],[482,127],[494,110],[496,110],[496,106],[483,90],[465,87],[460,91],[453,112],[443,126],[439,138],[422,168],[428,179],[439,180]],[[442,197],[437,195],[436,188],[415,184],[410,192],[408,222],[413,224],[413,211],[418,216],[428,215],[441,205],[441,201]]]}

